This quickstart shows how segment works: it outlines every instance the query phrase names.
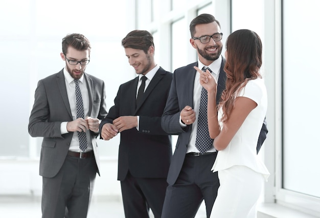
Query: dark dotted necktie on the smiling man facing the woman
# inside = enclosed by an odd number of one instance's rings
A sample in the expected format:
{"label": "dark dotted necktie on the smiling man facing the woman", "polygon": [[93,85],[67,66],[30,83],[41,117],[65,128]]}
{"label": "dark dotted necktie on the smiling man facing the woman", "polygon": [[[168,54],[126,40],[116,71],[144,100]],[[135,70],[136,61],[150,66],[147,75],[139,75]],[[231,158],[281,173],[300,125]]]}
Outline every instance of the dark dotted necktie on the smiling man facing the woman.
{"label": "dark dotted necktie on the smiling man facing the woman", "polygon": [[[209,67],[203,67],[202,71],[209,70]],[[210,139],[209,129],[208,129],[208,116],[207,116],[207,105],[208,105],[208,92],[202,87],[199,116],[198,116],[198,127],[196,136],[196,148],[200,153],[205,153],[212,147],[213,139]]]}

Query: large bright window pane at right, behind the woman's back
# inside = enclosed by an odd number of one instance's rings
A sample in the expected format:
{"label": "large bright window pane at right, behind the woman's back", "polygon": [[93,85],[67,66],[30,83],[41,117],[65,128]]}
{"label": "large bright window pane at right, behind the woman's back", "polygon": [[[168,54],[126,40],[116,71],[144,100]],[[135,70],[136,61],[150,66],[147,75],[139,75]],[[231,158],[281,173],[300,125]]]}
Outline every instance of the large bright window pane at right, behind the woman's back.
{"label": "large bright window pane at right, behind the woman's back", "polygon": [[[312,202],[320,202],[318,8],[317,0],[306,0],[303,4],[282,1],[283,165],[280,185],[289,201],[301,202],[298,207],[319,212],[318,207],[312,208]],[[301,35],[304,36],[299,37]],[[297,197],[303,199],[293,200]],[[280,200],[284,198],[280,196]]]}

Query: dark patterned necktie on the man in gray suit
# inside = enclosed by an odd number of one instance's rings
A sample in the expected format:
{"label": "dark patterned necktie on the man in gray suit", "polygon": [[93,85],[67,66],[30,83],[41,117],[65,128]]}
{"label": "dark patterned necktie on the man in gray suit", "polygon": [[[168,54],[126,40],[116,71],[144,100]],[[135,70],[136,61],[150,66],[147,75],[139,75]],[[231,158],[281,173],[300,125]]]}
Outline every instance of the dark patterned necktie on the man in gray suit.
{"label": "dark patterned necktie on the man in gray suit", "polygon": [[[76,84],[76,101],[77,101],[77,119],[79,117],[84,119],[84,111],[83,111],[83,101],[82,101],[82,96],[79,88],[79,80],[75,79],[75,84]],[[82,151],[85,151],[87,149],[88,144],[87,144],[87,138],[85,132],[79,132],[78,131],[78,138],[79,138],[79,147]]]}

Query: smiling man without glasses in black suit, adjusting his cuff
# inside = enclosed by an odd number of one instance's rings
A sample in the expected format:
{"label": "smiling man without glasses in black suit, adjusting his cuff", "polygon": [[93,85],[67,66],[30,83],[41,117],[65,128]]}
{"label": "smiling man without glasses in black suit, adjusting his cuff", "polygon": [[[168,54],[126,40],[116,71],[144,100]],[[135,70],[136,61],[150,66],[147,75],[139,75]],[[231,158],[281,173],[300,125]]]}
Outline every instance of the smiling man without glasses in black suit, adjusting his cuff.
{"label": "smiling man without glasses in black suit, adjusting his cuff", "polygon": [[161,127],[172,73],[154,62],[153,37],[135,30],[122,40],[129,64],[139,76],[119,87],[109,114],[100,124],[101,137],[121,133],[118,180],[125,216],[161,217],[172,156],[171,137]]}

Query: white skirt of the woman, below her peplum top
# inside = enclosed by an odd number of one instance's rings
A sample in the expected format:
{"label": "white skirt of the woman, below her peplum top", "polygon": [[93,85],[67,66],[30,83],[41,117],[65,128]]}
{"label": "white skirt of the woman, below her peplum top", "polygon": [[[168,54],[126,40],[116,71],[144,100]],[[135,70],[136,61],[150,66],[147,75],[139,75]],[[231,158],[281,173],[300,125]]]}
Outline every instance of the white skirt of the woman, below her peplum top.
{"label": "white skirt of the woman, below her peplum top", "polygon": [[245,166],[218,171],[220,187],[212,218],[256,218],[264,177]]}

